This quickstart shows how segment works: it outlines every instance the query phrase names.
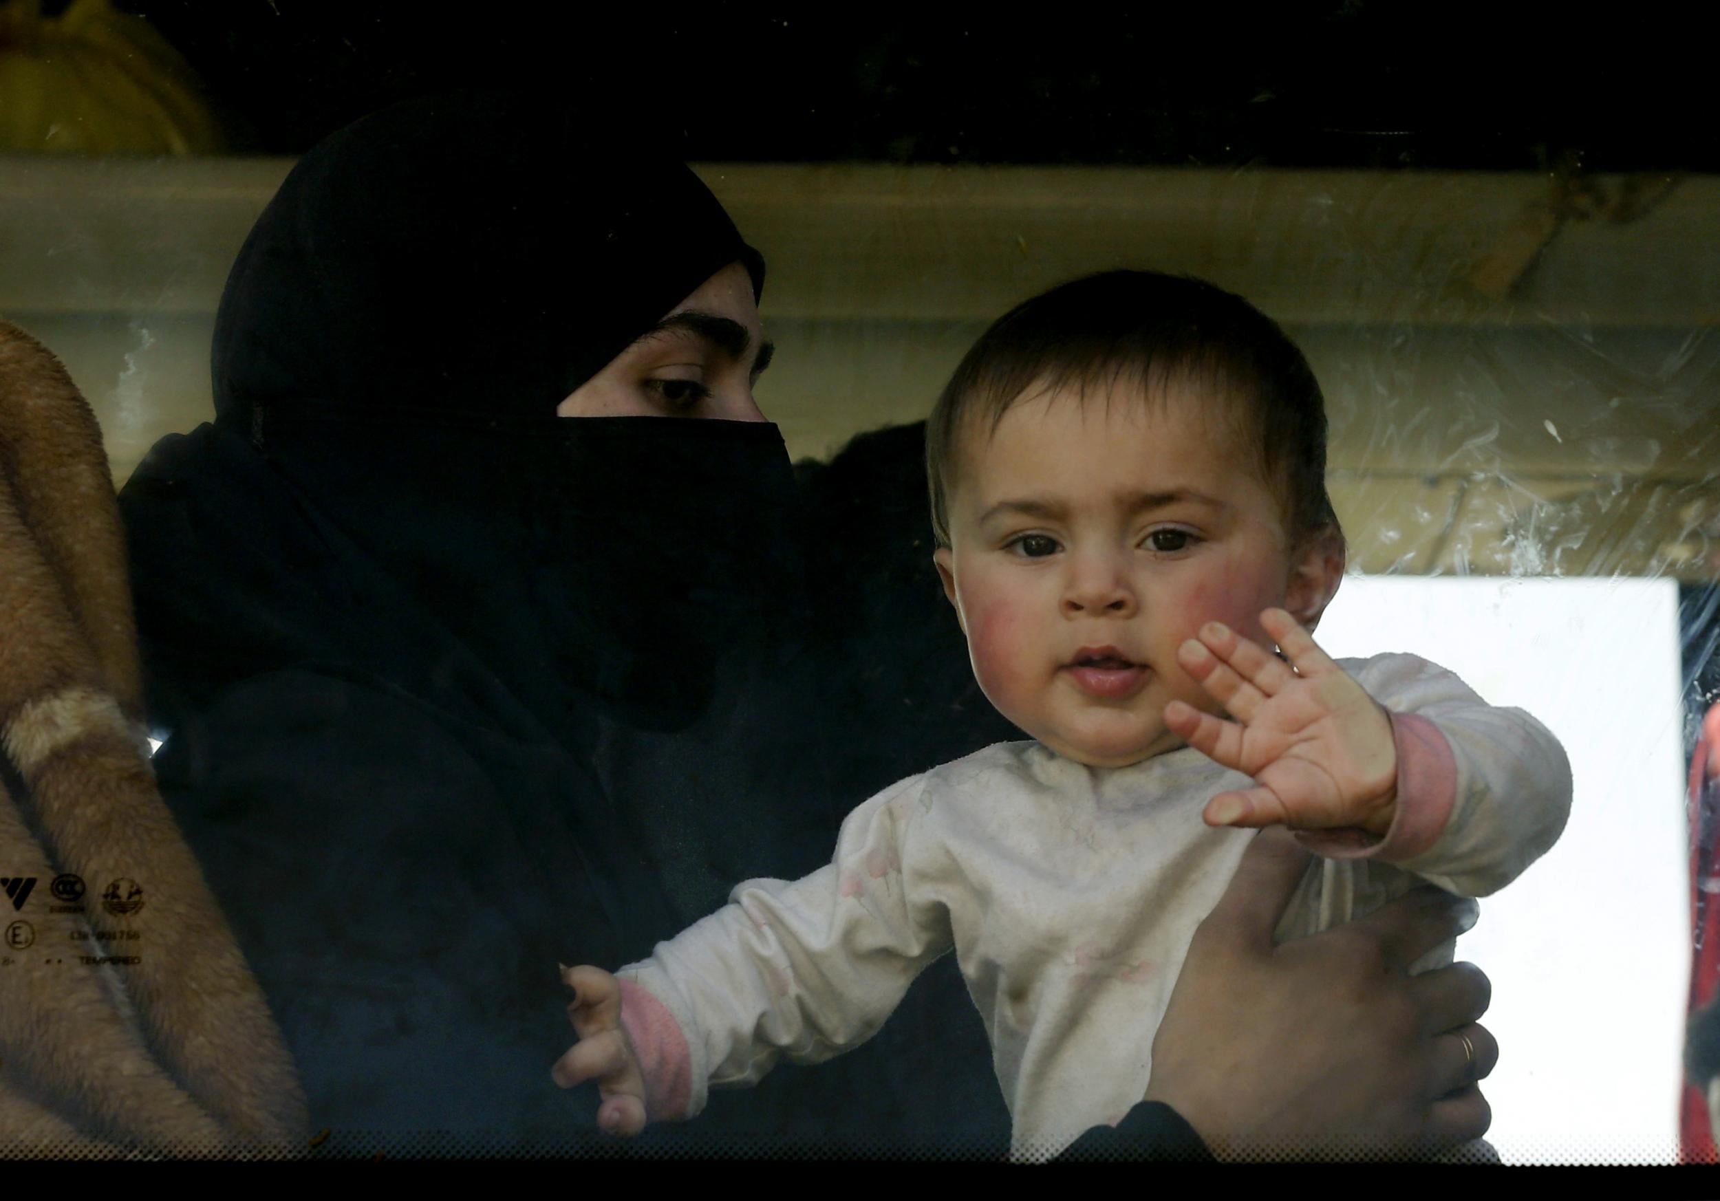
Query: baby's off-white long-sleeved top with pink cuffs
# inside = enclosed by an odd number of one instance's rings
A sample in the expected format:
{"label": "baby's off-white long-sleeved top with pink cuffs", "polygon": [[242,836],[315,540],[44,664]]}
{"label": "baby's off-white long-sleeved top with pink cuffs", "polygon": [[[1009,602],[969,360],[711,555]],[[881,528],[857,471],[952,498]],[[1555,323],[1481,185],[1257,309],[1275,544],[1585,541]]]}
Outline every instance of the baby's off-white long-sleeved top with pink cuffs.
{"label": "baby's off-white long-sleeved top with pink cuffs", "polygon": [[[1565,754],[1529,714],[1486,705],[1414,656],[1340,666],[1391,712],[1398,812],[1371,845],[1304,835],[1328,857],[1311,865],[1280,941],[1421,881],[1493,893],[1553,845],[1570,807]],[[829,865],[740,884],[724,908],[617,972],[650,1117],[695,1115],[709,1086],[755,1082],[779,1056],[810,1063],[863,1043],[955,948],[1013,1155],[1056,1155],[1120,1122],[1147,1091],[1195,927],[1252,836],[1201,812],[1244,786],[1192,748],[1101,769],[1011,742],[886,788],[843,822]],[[1417,969],[1450,957],[1447,943]]]}

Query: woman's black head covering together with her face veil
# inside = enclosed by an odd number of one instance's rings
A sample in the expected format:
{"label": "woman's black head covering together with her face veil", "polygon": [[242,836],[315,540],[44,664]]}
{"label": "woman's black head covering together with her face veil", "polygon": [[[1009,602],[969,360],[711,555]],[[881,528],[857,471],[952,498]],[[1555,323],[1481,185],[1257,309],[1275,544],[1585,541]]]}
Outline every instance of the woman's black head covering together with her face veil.
{"label": "woman's black head covering together with her face veil", "polygon": [[595,699],[673,730],[795,607],[781,435],[554,410],[736,262],[759,289],[678,162],[525,96],[406,103],[258,220],[217,318],[217,428],[547,723]]}

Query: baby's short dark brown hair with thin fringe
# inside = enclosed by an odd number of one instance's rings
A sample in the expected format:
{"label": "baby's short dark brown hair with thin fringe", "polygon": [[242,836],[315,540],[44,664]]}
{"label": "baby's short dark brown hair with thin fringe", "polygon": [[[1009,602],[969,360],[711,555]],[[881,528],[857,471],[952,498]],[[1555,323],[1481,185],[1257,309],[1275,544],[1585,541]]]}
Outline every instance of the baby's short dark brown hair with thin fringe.
{"label": "baby's short dark brown hair with thin fringe", "polygon": [[996,430],[1029,391],[1075,387],[1085,396],[1123,382],[1144,397],[1159,399],[1173,384],[1211,397],[1211,422],[1259,454],[1290,535],[1323,527],[1342,535],[1326,496],[1326,401],[1295,342],[1245,299],[1206,280],[1118,270],[1017,305],[949,377],[925,423],[937,545],[949,545],[948,497],[965,434]]}

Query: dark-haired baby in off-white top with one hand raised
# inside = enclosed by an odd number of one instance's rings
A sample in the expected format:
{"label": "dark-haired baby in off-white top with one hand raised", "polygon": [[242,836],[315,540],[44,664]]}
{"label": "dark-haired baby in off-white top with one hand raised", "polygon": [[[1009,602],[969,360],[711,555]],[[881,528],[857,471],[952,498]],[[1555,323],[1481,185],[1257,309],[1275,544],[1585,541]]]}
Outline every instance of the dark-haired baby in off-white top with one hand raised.
{"label": "dark-haired baby in off-white top with one hand raised", "polygon": [[927,475],[974,673],[1032,740],[886,788],[827,867],[740,884],[642,964],[562,969],[581,1041],[556,1081],[597,1079],[616,1134],[686,1118],[865,1041],[953,948],[1013,1156],[1049,1156],[1147,1093],[1250,828],[1323,855],[1280,941],[1422,881],[1510,883],[1563,829],[1565,754],[1431,662],[1314,644],[1345,563],[1324,468],[1307,361],[1237,296],[1109,272],[1004,315],[937,401]]}

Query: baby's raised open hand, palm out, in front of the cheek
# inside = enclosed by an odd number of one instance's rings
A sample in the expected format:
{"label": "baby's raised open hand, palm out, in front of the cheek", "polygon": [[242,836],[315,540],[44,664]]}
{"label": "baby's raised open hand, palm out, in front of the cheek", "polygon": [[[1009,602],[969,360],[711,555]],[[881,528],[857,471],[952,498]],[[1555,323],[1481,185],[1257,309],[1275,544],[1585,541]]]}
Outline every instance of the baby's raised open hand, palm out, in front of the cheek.
{"label": "baby's raised open hand, palm out, in front of the cheek", "polygon": [[1206,822],[1385,835],[1397,812],[1391,721],[1288,613],[1268,609],[1261,628],[1295,671],[1216,621],[1176,650],[1182,668],[1237,721],[1173,700],[1164,705],[1164,724],[1256,781],[1213,797]]}

